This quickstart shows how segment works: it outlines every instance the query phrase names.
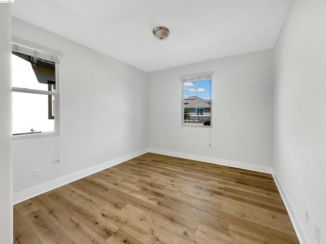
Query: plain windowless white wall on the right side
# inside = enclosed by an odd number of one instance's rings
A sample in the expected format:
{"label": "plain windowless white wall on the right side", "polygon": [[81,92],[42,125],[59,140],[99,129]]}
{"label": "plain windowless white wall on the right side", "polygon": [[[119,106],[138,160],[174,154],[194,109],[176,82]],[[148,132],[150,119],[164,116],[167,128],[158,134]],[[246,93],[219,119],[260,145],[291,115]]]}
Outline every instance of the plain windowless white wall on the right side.
{"label": "plain windowless white wall on the right side", "polygon": [[275,46],[274,169],[303,243],[314,222],[326,243],[325,23],[325,1],[293,1]]}

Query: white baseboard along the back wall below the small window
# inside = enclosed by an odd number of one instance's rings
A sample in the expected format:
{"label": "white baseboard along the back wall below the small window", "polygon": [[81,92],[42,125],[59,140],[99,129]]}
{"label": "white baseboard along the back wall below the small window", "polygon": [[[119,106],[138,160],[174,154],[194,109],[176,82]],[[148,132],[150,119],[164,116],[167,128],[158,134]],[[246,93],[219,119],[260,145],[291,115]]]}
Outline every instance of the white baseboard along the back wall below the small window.
{"label": "white baseboard along the back wall below the small window", "polygon": [[239,169],[248,169],[248,170],[253,170],[253,171],[258,171],[258,172],[263,172],[268,174],[273,173],[273,169],[271,167],[263,166],[263,165],[243,163],[243,162],[226,160],[226,159],[211,158],[211,157],[193,155],[193,154],[184,154],[184,153],[179,153],[177,151],[167,151],[167,150],[161,150],[156,148],[148,148],[148,151],[154,154],[161,154],[161,155],[167,155],[167,156],[178,157],[183,159],[197,160],[197,161],[202,161],[211,164],[219,164],[224,166],[235,167]]}

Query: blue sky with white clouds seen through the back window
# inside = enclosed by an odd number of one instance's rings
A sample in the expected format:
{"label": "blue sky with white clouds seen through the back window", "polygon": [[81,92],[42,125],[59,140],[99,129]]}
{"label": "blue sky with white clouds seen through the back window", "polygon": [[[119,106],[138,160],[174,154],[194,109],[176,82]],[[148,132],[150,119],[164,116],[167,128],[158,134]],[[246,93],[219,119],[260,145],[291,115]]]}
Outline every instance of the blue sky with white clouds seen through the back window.
{"label": "blue sky with white clouds seen through the back window", "polygon": [[183,83],[183,99],[196,96],[201,99],[211,99],[212,80],[200,80]]}

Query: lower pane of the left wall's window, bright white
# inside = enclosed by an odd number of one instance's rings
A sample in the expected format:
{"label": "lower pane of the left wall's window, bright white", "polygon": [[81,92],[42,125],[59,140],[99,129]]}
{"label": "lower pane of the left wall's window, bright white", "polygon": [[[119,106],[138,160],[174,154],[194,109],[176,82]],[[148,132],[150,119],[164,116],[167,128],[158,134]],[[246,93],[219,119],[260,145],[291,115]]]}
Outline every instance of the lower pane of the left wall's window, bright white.
{"label": "lower pane of the left wall's window, bright white", "polygon": [[55,120],[49,119],[48,95],[12,93],[13,134],[53,132]]}

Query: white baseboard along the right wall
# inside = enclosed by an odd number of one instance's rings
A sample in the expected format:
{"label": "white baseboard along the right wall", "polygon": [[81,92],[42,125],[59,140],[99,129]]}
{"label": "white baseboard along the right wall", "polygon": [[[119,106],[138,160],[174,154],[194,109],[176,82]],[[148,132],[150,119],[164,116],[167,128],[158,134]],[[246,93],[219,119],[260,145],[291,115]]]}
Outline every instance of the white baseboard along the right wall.
{"label": "white baseboard along the right wall", "polygon": [[297,214],[296,214],[286,192],[284,191],[284,188],[282,187],[280,180],[278,179],[278,177],[275,173],[273,173],[273,178],[274,178],[275,184],[279,190],[279,193],[282,197],[282,200],[284,202],[286,210],[289,214],[290,220],[292,222],[296,236],[300,241],[300,244],[310,244],[310,241],[306,235],[306,232],[304,231],[304,228],[303,228],[299,218],[297,217]]}

